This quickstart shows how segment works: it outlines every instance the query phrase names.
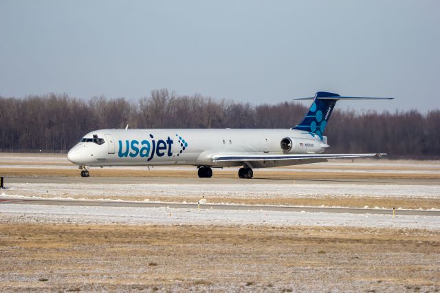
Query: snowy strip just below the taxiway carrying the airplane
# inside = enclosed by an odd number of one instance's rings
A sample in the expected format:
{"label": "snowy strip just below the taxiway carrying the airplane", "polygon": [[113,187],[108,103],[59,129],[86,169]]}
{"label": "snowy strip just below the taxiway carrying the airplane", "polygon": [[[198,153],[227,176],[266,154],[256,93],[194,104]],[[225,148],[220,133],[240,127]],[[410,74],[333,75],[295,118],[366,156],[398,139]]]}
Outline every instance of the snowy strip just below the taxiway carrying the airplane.
{"label": "snowy strip just below the taxiway carrying the airplane", "polygon": [[219,197],[219,198],[295,198],[295,197],[404,197],[439,198],[439,185],[404,184],[55,184],[12,183],[9,195],[73,198]]}

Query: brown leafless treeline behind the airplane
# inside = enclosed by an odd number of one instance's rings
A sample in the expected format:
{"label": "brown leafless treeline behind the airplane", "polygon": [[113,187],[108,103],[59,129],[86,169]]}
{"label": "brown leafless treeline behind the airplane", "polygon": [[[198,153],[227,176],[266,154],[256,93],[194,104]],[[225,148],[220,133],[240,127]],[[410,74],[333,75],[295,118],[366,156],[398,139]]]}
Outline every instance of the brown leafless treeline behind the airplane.
{"label": "brown leafless treeline behind the airplane", "polygon": [[[308,107],[309,105],[307,105]],[[87,132],[124,128],[289,128],[306,105],[250,105],[199,94],[178,96],[166,89],[132,102],[49,94],[0,97],[0,149],[67,150]],[[326,135],[331,153],[386,152],[398,158],[439,158],[440,110],[395,113],[334,111]]]}

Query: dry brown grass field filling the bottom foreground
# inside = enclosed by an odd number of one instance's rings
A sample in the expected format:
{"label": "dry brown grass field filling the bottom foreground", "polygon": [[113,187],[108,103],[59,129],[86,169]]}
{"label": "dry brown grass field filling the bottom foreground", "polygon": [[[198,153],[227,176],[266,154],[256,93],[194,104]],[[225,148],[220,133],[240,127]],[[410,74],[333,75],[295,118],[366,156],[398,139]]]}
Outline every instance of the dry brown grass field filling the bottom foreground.
{"label": "dry brown grass field filling the bottom foreground", "polygon": [[0,224],[0,291],[439,292],[429,230]]}

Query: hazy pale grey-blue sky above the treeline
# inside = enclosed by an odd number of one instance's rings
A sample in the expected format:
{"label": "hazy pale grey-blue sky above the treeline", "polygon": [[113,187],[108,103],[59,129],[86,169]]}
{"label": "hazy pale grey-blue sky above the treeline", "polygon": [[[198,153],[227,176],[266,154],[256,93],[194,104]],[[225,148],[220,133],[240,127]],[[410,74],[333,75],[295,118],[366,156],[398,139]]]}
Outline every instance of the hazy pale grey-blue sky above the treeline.
{"label": "hazy pale grey-blue sky above the treeline", "polygon": [[440,108],[440,1],[0,1],[0,96]]}

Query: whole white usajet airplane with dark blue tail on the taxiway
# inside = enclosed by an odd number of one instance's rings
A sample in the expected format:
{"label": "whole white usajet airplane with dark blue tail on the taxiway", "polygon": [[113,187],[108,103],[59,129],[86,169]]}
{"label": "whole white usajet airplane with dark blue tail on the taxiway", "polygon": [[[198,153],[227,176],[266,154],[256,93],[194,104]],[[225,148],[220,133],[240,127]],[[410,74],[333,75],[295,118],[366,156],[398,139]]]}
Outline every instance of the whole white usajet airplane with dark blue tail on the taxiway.
{"label": "whole white usajet airplane with dark blue tail on the taxiway", "polygon": [[384,153],[324,154],[324,136],[338,100],[391,100],[340,96],[318,91],[307,115],[291,129],[100,129],[87,133],[67,158],[82,177],[89,166],[196,166],[201,178],[212,168],[241,166],[239,177],[250,179],[252,169],[327,162],[328,159],[380,158]]}

